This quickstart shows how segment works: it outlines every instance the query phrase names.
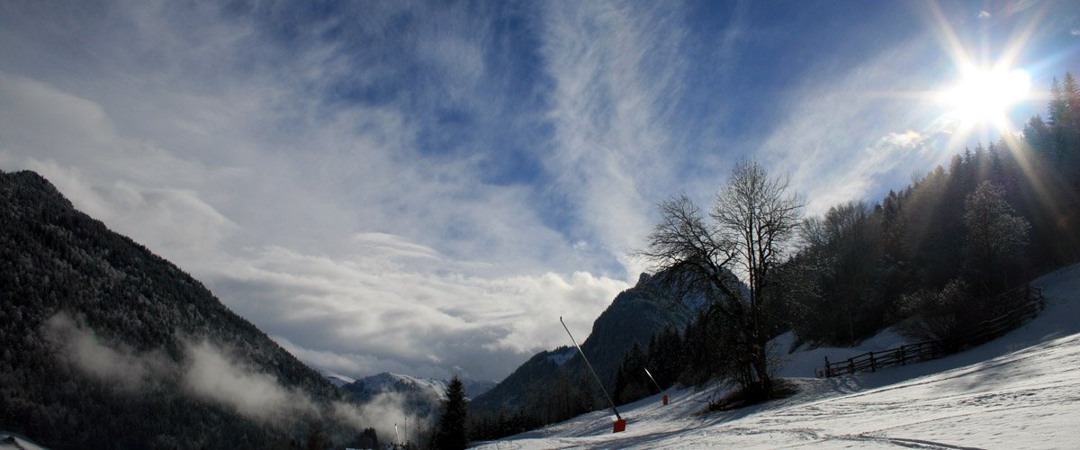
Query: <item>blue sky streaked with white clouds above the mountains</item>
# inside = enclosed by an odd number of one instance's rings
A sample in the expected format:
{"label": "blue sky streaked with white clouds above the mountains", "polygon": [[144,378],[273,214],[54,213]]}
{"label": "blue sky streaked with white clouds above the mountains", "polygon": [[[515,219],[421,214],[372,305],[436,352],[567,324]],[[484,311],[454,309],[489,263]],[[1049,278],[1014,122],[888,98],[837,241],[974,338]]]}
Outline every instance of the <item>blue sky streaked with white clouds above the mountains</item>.
{"label": "blue sky streaked with white clouds above the mountains", "polygon": [[[941,93],[1024,70],[1000,120]],[[754,159],[808,215],[1045,115],[1069,1],[0,0],[0,169],[309,365],[501,380],[581,341],[656,205]]]}

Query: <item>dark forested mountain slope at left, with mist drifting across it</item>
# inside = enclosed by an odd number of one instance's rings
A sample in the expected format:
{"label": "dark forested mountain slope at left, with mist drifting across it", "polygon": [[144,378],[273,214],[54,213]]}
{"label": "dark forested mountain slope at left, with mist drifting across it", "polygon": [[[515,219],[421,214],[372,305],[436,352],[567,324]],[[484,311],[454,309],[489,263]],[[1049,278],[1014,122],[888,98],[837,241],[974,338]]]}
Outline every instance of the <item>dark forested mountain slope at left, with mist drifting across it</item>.
{"label": "dark forested mountain slope at left, with mist drifting across it", "polygon": [[363,411],[201,283],[0,172],[0,429],[53,449],[272,448]]}

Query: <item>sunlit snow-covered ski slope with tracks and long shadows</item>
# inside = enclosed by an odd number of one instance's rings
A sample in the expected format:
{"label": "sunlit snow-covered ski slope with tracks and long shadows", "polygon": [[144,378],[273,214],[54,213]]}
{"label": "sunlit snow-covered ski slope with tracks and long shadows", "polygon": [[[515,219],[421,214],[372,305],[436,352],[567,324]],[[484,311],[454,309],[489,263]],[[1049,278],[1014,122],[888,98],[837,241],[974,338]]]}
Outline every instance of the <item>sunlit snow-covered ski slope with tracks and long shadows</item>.
{"label": "sunlit snow-covered ski slope with tracks and long shadows", "polygon": [[[482,449],[566,448],[1080,448],[1080,265],[1032,283],[1047,310],[993,342],[932,362],[828,380],[813,367],[899,345],[883,332],[856,349],[786,356],[781,370],[800,393],[765,405],[693,414],[711,392],[669,391],[609,411],[484,442]],[[781,345],[782,346],[782,345]]]}

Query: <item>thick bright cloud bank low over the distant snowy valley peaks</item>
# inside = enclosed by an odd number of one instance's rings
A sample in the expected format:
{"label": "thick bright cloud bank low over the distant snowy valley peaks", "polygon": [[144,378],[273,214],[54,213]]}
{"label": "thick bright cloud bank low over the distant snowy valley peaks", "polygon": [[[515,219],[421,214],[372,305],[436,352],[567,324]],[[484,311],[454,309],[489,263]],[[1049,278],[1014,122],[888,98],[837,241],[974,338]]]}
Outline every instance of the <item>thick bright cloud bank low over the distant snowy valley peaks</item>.
{"label": "thick bright cloud bank low over the distant snowy valley peaks", "polygon": [[[391,241],[402,246],[400,237]],[[446,378],[460,366],[465,373],[457,374],[489,379],[510,368],[491,362],[516,365],[565,344],[561,315],[586,336],[592,321],[629,287],[585,272],[488,277],[462,272],[469,263],[405,247],[409,251],[391,257],[349,258],[267,248],[232,260],[213,284],[233,300],[234,311],[320,367]]]}

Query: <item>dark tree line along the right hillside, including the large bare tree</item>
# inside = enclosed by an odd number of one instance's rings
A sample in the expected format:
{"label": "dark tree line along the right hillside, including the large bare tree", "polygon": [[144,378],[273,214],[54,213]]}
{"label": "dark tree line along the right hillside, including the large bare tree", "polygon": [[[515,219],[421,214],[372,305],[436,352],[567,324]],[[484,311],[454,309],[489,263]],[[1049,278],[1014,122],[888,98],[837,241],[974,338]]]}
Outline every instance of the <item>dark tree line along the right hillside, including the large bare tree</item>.
{"label": "dark tree line along the right hillside, including the large bare tree", "polygon": [[[766,399],[766,343],[781,332],[855,345],[904,324],[912,337],[948,339],[1022,301],[1002,292],[1077,261],[1080,88],[1066,73],[1050,94],[1048,118],[1032,117],[1022,135],[966,149],[873,204],[804,217],[788,178],[755,161],[737,164],[707,210],[686,195],[662,202],[637,256],[676,297],[708,298],[681,351],[665,351],[677,355],[675,379]],[[653,345],[624,355],[621,401],[656,391],[638,370]]]}

